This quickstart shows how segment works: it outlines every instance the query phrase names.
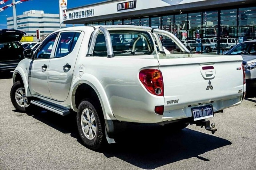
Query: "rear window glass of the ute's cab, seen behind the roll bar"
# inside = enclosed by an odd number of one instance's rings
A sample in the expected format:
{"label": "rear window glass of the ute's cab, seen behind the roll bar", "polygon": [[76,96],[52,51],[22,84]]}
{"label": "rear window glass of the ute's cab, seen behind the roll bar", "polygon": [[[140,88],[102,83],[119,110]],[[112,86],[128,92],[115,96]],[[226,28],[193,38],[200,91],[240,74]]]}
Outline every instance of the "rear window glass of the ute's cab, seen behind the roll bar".
{"label": "rear window glass of the ute's cab, seen behind the roll bar", "polygon": [[[148,55],[154,45],[147,32],[110,32],[115,56]],[[99,34],[93,50],[94,56],[107,56],[107,46],[103,34]]]}

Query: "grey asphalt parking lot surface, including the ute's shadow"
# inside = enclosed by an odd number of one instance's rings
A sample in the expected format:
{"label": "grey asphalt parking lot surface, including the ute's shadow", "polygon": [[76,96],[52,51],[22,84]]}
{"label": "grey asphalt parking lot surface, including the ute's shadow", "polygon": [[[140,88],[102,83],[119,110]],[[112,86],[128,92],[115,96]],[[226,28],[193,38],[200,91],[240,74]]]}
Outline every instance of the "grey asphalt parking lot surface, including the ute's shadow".
{"label": "grey asphalt parking lot surface, including the ute's shadow", "polygon": [[101,151],[82,145],[75,115],[18,113],[11,74],[0,75],[0,169],[256,169],[256,97],[209,119],[218,131],[189,125],[172,132],[134,126]]}

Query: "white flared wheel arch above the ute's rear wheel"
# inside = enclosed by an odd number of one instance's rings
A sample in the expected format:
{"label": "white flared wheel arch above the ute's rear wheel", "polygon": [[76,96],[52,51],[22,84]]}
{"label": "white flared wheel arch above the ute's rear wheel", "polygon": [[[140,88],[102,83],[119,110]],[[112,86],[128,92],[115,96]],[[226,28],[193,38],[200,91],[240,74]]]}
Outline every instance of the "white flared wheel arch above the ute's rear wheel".
{"label": "white flared wheel arch above the ute's rear wheel", "polygon": [[110,107],[106,92],[100,82],[96,78],[93,78],[92,75],[85,77],[73,83],[71,89],[72,109],[77,111],[80,101],[84,98],[98,99],[104,119],[116,119]]}

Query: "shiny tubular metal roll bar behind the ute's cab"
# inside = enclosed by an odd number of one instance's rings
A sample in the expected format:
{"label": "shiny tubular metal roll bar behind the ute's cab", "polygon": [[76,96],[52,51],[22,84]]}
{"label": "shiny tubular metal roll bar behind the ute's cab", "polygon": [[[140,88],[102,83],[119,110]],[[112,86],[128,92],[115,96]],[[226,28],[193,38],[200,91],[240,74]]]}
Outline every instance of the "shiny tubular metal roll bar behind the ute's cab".
{"label": "shiny tubular metal roll bar behind the ute's cab", "polygon": [[[156,43],[158,45],[159,48],[159,52],[165,54],[164,52],[164,48],[162,46],[161,40],[159,38],[159,36],[157,35],[165,35],[169,38],[172,39],[172,41],[177,44],[177,46],[180,47],[180,49],[185,53],[185,54],[192,54],[185,46],[184,44],[182,44],[180,42],[180,40],[174,36],[172,33],[167,32],[165,30],[160,30],[160,29],[155,29],[155,28],[150,28],[150,27],[141,27],[141,26],[127,26],[127,25],[119,25],[117,26],[101,26],[98,27],[97,29],[94,30],[94,32],[92,33],[91,36],[91,40],[90,40],[90,44],[89,44],[89,48],[88,48],[88,53],[86,56],[92,56],[93,55],[93,50],[94,50],[94,46],[96,43],[96,38],[98,36],[99,33],[103,33],[105,40],[106,40],[106,46],[107,46],[107,53],[108,53],[108,58],[112,58],[114,57],[114,52],[113,52],[113,47],[112,47],[112,41],[111,41],[111,36],[108,32],[108,29],[111,30],[119,30],[120,28],[125,28],[127,30],[139,30],[139,31],[150,31],[151,33],[153,33],[153,36],[156,39]],[[139,39],[137,39],[138,41]],[[132,51],[134,51],[135,49],[132,49]]]}

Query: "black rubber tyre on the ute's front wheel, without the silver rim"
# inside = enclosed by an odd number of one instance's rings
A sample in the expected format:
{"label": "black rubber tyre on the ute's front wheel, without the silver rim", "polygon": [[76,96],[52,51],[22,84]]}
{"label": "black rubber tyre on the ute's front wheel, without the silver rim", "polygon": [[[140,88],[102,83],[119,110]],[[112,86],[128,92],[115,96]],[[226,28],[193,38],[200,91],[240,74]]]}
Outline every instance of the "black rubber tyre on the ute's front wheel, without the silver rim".
{"label": "black rubber tyre on the ute's front wheel, without the silver rim", "polygon": [[15,99],[15,92],[20,87],[24,87],[24,85],[22,83],[20,83],[20,81],[16,81],[13,84],[13,86],[11,87],[11,92],[10,92],[11,103],[13,104],[13,106],[15,107],[16,110],[18,110],[20,112],[26,112],[26,111],[30,110],[31,104],[28,107],[23,108],[17,104],[16,99]]}

